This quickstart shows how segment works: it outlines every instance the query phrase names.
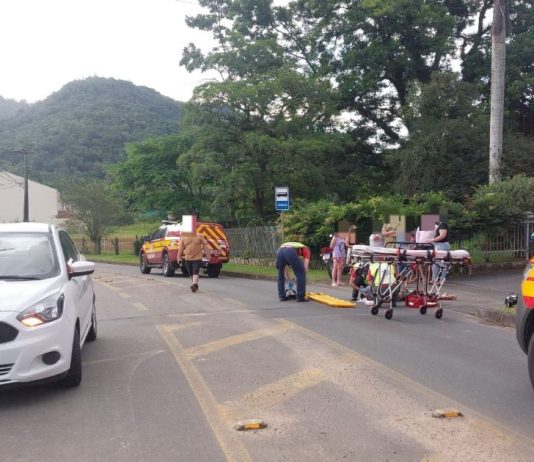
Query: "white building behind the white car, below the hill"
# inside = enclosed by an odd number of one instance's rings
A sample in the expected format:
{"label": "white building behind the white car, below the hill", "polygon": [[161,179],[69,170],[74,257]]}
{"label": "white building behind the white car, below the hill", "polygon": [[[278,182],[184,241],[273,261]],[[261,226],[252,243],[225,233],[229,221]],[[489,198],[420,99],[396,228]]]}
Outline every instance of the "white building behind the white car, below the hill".
{"label": "white building behind the white car, below the hill", "polygon": [[[59,192],[28,180],[29,220],[58,223]],[[0,170],[0,222],[24,221],[24,178]]]}

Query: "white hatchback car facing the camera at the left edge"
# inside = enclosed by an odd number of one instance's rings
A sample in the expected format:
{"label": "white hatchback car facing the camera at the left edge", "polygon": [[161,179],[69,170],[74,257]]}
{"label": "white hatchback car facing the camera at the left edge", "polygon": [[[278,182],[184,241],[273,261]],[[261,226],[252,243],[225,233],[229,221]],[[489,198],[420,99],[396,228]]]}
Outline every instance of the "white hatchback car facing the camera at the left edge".
{"label": "white hatchback car facing the camera at the left edge", "polygon": [[80,350],[97,333],[94,270],[58,226],[0,224],[0,390],[80,384]]}

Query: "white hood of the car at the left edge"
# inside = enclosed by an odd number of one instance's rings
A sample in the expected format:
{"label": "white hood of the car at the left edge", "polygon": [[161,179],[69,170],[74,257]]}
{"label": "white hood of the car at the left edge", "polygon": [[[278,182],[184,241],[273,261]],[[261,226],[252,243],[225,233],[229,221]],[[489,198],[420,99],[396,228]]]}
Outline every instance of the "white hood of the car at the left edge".
{"label": "white hood of the car at the left edge", "polygon": [[20,313],[57,292],[60,287],[59,278],[39,281],[0,280],[0,313],[8,311]]}

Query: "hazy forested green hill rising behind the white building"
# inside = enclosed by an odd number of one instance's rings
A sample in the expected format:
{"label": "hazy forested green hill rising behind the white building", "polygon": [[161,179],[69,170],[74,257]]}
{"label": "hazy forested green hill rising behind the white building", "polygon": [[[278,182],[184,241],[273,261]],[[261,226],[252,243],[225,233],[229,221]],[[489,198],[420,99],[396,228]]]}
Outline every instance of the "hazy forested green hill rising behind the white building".
{"label": "hazy forested green hill rising behind the white building", "polygon": [[[124,80],[77,80],[33,104],[0,97],[0,146],[28,148],[30,178],[47,184],[103,177],[105,165],[124,159],[126,143],[176,133],[180,108]],[[13,156],[2,159],[0,167],[20,171]]]}

